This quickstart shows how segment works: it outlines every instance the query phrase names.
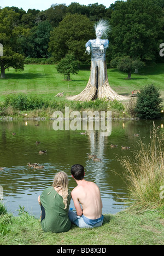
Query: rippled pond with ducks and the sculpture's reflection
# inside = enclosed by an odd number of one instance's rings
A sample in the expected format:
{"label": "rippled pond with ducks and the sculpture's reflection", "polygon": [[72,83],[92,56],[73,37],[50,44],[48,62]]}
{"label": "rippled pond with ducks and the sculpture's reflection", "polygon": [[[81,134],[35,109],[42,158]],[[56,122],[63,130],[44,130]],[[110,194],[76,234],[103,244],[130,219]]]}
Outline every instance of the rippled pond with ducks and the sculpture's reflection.
{"label": "rippled pond with ducks and the sculpture's reflection", "polygon": [[[53,120],[0,121],[0,186],[7,210],[18,214],[19,205],[36,217],[40,217],[38,195],[51,186],[54,175],[65,171],[69,177],[69,188],[76,183],[71,177],[71,166],[85,167],[85,179],[95,182],[103,201],[103,213],[116,213],[126,207],[127,188],[124,170],[118,158],[132,157],[140,138],[150,142],[150,127],[153,121],[112,120],[112,133],[103,137],[101,131],[54,130]],[[163,129],[163,120],[154,121]],[[16,134],[13,135],[13,132]],[[36,144],[39,141],[40,144]],[[110,144],[118,147],[111,148]],[[130,147],[122,150],[121,146]],[[40,150],[47,150],[39,154]],[[96,154],[101,162],[93,162],[88,154]],[[38,162],[42,169],[34,169],[27,163]],[[119,175],[114,173],[116,171]],[[71,206],[74,208],[73,202]]]}

